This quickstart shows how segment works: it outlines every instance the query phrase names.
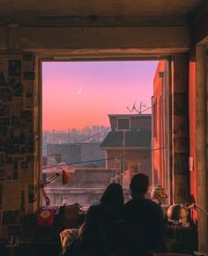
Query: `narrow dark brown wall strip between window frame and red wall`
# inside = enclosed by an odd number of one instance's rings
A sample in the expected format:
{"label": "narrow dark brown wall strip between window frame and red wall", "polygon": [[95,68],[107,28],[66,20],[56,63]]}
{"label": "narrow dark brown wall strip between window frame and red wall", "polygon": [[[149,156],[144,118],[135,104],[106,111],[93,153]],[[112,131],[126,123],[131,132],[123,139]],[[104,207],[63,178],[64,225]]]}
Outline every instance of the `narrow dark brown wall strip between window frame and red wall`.
{"label": "narrow dark brown wall strip between window frame and red wall", "polygon": [[172,85],[172,154],[174,202],[189,201],[189,57],[174,56],[174,82]]}

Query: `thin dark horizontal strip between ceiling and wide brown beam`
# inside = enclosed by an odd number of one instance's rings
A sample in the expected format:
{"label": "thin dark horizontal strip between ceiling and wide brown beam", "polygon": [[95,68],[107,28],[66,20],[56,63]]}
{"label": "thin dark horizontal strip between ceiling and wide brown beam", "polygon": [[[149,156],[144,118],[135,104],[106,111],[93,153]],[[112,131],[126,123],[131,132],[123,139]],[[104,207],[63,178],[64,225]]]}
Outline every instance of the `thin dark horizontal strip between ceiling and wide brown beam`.
{"label": "thin dark horizontal strip between ceiling and wide brown beam", "polygon": [[189,26],[188,15],[157,16],[40,16],[40,17],[1,17],[0,26],[18,24],[29,27],[119,27],[119,26]]}

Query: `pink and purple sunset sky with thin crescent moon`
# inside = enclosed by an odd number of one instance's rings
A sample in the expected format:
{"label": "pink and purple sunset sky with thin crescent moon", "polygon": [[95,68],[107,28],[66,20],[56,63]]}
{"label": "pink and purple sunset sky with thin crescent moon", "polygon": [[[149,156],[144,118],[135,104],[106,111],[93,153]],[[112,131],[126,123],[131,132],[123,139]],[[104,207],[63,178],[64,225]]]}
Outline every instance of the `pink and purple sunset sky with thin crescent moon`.
{"label": "pink and purple sunset sky with thin crescent moon", "polygon": [[44,62],[42,129],[109,126],[108,114],[131,114],[134,102],[151,113],[157,61]]}

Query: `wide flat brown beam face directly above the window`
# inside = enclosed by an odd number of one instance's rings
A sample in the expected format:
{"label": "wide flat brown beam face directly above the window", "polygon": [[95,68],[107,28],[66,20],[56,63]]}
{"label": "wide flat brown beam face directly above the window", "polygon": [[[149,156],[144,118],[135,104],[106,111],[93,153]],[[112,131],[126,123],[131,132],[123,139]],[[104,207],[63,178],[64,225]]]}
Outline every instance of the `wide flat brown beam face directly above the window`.
{"label": "wide flat brown beam face directly above the window", "polygon": [[0,27],[1,49],[189,49],[189,28]]}

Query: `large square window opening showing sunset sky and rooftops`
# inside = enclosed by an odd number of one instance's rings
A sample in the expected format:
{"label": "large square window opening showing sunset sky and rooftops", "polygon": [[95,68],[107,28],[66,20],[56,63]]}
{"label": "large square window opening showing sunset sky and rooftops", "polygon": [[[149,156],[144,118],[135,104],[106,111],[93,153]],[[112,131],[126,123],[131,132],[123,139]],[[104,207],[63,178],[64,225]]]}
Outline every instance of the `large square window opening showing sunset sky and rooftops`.
{"label": "large square window opening showing sunset sky and rooftops", "polygon": [[[162,61],[167,64],[167,60]],[[162,145],[151,139],[150,148],[145,148],[149,150],[149,159],[143,157],[142,147],[137,150],[131,148],[131,151],[128,151],[130,145],[123,147],[122,131],[130,132],[132,127],[138,125],[134,132],[144,132],[145,121],[139,118],[137,121],[135,117],[152,115],[152,109],[159,109],[157,96],[152,108],[152,96],[156,95],[155,76],[160,72],[158,63],[158,60],[41,61],[41,182],[63,169],[71,175],[69,184],[63,185],[62,178],[58,176],[45,187],[51,205],[62,205],[63,200],[82,205],[93,204],[100,199],[101,193],[112,180],[115,180],[116,175],[120,177],[116,182],[125,187],[125,200],[129,200],[130,176],[129,180],[125,177],[124,181],[123,154],[130,154],[129,159],[125,158],[128,164],[124,171],[133,169],[134,172],[146,172],[146,169],[150,169],[151,183],[155,184],[157,181],[168,191],[168,146],[166,151],[160,150]],[[168,76],[166,72],[165,75]],[[167,82],[164,86],[166,92],[168,86]],[[166,110],[167,103],[163,105]],[[109,120],[109,114],[117,114],[118,118]],[[121,114],[125,114],[125,117],[120,117]],[[130,119],[128,115],[135,117]],[[134,124],[131,124],[131,120],[134,120]],[[151,124],[151,129],[152,134],[157,136],[160,120],[154,120],[156,123]],[[112,132],[114,122],[117,131],[122,132],[122,142],[108,148],[110,153],[107,154],[107,150],[100,148],[100,144],[107,138],[108,133]],[[168,120],[166,122],[168,123]],[[127,138],[130,135],[126,133],[125,136]],[[138,154],[143,157],[143,162],[135,160]],[[166,166],[159,164],[160,168],[155,177],[156,172],[152,172],[152,169],[156,161],[158,166],[161,154],[165,155],[163,159],[167,159],[164,160],[167,161]]]}

